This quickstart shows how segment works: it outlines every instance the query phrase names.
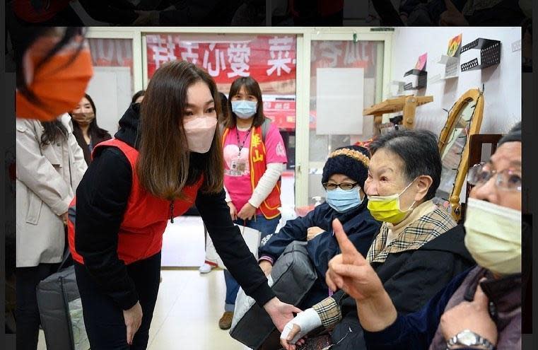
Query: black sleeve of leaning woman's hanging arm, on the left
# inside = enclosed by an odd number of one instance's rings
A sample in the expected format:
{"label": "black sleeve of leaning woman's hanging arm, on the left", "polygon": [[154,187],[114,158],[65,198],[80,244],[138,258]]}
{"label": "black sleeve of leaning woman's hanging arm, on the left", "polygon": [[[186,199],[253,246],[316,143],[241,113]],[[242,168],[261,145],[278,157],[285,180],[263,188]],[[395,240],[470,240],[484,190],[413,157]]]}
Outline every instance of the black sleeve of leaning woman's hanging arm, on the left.
{"label": "black sleeve of leaning woman's hanging arm, on the left", "polygon": [[75,248],[93,280],[123,310],[139,297],[117,255],[118,232],[131,193],[131,165],[114,147],[90,163],[76,189]]}

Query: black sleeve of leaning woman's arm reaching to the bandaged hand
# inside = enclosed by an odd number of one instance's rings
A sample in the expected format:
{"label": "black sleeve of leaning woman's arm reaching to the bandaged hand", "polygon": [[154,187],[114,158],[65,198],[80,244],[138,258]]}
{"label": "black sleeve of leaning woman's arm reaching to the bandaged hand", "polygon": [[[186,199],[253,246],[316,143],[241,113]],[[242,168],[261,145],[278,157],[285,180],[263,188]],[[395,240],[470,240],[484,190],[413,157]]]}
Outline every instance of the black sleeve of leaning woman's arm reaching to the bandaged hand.
{"label": "black sleeve of leaning woman's arm reaching to the bandaged hand", "polygon": [[262,269],[233,224],[226,204],[224,189],[218,194],[198,192],[196,207],[213,240],[215,249],[248,296],[263,306],[274,297]]}

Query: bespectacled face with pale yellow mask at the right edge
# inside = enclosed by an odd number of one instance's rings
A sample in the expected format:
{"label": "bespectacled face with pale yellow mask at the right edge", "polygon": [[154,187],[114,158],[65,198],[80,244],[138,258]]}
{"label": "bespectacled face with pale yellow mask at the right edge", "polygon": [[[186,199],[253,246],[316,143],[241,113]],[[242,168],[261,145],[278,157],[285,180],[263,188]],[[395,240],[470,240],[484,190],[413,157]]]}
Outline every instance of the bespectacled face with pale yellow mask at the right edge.
{"label": "bespectacled face with pale yellow mask at the right edge", "polygon": [[481,267],[521,272],[521,143],[507,142],[469,170],[475,185],[465,214],[465,246]]}

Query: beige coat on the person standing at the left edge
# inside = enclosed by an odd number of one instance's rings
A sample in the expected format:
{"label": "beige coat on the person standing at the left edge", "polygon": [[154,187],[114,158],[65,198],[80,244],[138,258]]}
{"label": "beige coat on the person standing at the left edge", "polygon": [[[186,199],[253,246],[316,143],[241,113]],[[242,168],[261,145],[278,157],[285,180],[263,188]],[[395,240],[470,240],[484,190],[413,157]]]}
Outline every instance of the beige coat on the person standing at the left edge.
{"label": "beige coat on the person standing at the left edge", "polygon": [[17,267],[62,261],[65,236],[60,216],[88,167],[73,135],[71,117],[63,115],[61,120],[68,138],[43,147],[40,122],[16,122]]}

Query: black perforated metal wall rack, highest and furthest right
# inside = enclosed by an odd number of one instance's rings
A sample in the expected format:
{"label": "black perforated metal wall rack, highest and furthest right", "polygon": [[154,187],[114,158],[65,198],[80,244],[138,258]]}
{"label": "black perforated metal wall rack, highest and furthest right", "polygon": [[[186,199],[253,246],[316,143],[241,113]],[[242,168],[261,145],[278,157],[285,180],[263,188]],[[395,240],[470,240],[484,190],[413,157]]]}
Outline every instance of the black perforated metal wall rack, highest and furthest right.
{"label": "black perforated metal wall rack, highest and furthest right", "polygon": [[501,62],[501,42],[479,37],[464,45],[461,51],[462,71],[484,69]]}

